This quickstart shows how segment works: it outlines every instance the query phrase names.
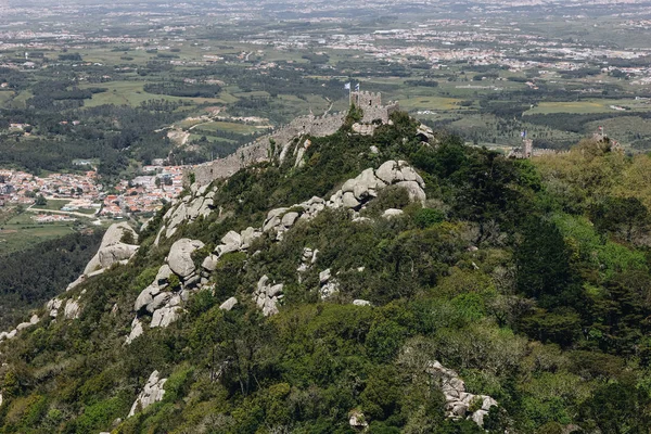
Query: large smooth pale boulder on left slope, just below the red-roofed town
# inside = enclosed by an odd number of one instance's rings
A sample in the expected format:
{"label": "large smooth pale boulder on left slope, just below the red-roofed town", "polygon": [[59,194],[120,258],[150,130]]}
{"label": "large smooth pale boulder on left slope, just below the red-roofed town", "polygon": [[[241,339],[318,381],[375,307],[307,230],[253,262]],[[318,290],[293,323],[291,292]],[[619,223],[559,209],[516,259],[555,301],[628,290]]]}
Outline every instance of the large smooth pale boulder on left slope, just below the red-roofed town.
{"label": "large smooth pale boulder on left slope, just below the red-roofed town", "polygon": [[111,225],[102,238],[98,253],[86,265],[84,275],[90,275],[93,271],[106,269],[113,264],[130,259],[138,251],[138,245],[124,243],[122,240],[126,234],[129,234],[133,242],[138,240],[138,234],[128,224]]}

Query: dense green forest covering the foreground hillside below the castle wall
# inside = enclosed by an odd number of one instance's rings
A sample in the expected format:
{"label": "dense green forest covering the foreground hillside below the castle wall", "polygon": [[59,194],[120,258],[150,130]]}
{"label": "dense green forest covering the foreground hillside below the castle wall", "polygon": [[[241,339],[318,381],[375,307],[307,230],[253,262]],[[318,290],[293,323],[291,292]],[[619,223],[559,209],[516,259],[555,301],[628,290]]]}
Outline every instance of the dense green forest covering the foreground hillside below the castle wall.
{"label": "dense green forest covering the foreground hillside below the castle wall", "polygon": [[[0,432],[354,433],[350,414],[363,414],[369,433],[647,433],[651,158],[586,140],[507,159],[445,133],[423,144],[418,123],[392,120],[373,136],[348,123],[310,138],[303,167],[265,163],[214,182],[219,212],[156,245],[164,209],[129,265],[66,294],[80,297],[78,319],[44,318],[2,344]],[[201,240],[201,263],[229,230],[388,159],[418,170],[424,204],[387,188],[363,221],[326,209],[281,240],[265,232],[220,257],[213,290],[179,321],[125,345],[133,302],[175,241]],[[390,208],[404,213],[382,217]],[[299,275],[305,247],[319,255]],[[339,288],[322,299],[326,269]],[[270,317],[252,301],[263,275],[284,283]],[[447,417],[423,368],[434,360],[499,403],[483,427]],[[168,379],[162,400],[127,418],[154,370]]]}

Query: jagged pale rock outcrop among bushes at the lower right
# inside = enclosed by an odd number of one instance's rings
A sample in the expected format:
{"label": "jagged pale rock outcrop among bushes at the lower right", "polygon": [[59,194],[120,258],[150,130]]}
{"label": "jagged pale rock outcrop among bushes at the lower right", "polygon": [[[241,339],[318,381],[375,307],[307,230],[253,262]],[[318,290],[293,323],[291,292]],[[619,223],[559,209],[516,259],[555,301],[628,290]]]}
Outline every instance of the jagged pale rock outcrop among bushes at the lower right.
{"label": "jagged pale rock outcrop among bushes at the lower right", "polygon": [[427,373],[435,378],[446,400],[446,414],[452,419],[469,419],[477,425],[484,425],[484,417],[497,401],[487,395],[473,395],[465,392],[465,383],[457,372],[433,361],[427,367]]}

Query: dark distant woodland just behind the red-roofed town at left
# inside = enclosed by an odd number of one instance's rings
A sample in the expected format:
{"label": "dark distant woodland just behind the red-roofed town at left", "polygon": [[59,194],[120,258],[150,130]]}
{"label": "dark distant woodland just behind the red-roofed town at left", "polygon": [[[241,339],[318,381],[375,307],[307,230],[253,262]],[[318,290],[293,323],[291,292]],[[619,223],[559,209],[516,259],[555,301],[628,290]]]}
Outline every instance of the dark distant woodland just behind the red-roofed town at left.
{"label": "dark distant woodland just behind the red-roofed town at left", "polygon": [[[69,93],[64,92],[69,97]],[[80,91],[79,95],[86,95]],[[36,97],[35,97],[36,98]],[[67,112],[52,110],[58,100],[42,93],[29,108],[0,110],[0,128],[10,123],[28,124],[31,137],[0,135],[0,165],[38,174],[74,167],[75,158],[99,158],[99,171],[107,179],[124,170],[130,158],[149,163],[166,157],[171,143],[164,132],[152,132],[182,118],[175,104],[155,100],[138,107],[102,105]],[[79,101],[68,99],[64,101]],[[40,104],[46,104],[41,106]],[[73,120],[76,120],[73,124]]]}

